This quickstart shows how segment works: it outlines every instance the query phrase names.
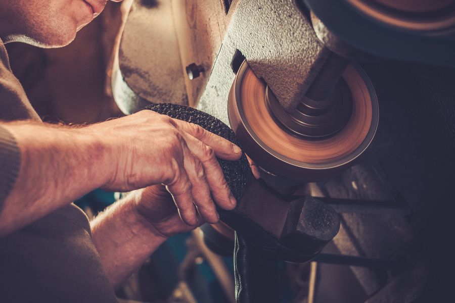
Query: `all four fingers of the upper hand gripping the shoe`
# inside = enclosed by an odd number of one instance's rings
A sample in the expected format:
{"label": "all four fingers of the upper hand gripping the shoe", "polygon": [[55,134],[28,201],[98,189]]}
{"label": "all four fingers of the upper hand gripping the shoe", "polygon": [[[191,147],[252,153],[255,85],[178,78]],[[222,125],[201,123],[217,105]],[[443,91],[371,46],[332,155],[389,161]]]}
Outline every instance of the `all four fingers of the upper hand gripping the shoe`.
{"label": "all four fingers of the upper hand gripping the shoe", "polygon": [[197,213],[204,221],[216,223],[219,216],[215,203],[225,210],[234,209],[237,204],[216,156],[237,160],[242,151],[230,141],[198,125],[176,119],[173,121],[184,138],[181,140],[184,159],[178,165],[179,176],[169,184],[168,191],[186,224],[196,225]]}

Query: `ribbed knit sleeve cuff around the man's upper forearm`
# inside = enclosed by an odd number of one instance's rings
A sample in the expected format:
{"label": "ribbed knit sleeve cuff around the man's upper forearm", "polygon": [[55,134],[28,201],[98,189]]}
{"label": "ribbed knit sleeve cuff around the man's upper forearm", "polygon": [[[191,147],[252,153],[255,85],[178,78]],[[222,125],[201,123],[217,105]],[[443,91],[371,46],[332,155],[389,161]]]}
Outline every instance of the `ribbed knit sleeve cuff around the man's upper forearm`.
{"label": "ribbed knit sleeve cuff around the man's upper forearm", "polygon": [[0,211],[16,182],[21,165],[21,152],[16,139],[0,126]]}

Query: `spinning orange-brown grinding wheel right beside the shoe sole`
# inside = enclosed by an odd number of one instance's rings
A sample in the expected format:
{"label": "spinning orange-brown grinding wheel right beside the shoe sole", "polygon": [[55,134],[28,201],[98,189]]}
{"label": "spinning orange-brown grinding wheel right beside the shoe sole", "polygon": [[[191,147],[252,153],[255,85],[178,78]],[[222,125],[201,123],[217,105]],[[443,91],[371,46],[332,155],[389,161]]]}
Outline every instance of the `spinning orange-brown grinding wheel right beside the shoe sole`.
{"label": "spinning orange-brown grinding wheel right beside the shoe sole", "polygon": [[379,108],[368,76],[355,63],[342,74],[352,95],[352,113],[337,133],[312,139],[287,131],[266,105],[267,85],[245,61],[231,87],[231,127],[246,153],[265,171],[304,181],[332,176],[352,164],[373,140]]}

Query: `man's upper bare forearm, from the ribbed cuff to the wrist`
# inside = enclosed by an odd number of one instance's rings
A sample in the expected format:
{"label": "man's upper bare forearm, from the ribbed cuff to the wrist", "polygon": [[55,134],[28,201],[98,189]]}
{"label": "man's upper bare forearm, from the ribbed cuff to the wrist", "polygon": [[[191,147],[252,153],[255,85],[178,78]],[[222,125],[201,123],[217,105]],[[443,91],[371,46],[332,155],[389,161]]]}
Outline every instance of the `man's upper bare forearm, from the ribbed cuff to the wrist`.
{"label": "man's upper bare forearm, from the ribbed cuff to the wrist", "polygon": [[105,150],[84,128],[2,123],[20,149],[16,183],[0,210],[0,236],[20,229],[83,194],[108,176]]}

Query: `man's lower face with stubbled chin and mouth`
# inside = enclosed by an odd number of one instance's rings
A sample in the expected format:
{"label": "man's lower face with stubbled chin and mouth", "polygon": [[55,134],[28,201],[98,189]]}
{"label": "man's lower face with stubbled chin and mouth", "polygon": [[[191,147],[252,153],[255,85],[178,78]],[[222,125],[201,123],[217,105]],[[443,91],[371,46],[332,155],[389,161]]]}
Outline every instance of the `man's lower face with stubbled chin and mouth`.
{"label": "man's lower face with stubbled chin and mouth", "polygon": [[106,2],[0,0],[0,34],[7,41],[19,40],[41,47],[63,46],[103,11]]}

